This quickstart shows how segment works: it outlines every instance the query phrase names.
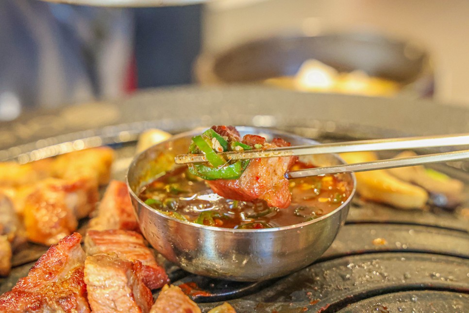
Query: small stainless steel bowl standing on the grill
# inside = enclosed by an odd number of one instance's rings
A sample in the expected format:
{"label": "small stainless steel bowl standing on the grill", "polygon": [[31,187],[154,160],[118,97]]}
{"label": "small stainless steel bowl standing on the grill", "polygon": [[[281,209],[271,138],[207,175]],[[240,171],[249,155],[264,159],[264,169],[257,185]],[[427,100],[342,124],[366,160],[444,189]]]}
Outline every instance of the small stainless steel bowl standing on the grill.
{"label": "small stainless steel bowl standing on the grill", "polygon": [[[237,127],[241,135],[281,137],[293,145],[316,143],[295,135],[255,127]],[[140,229],[149,243],[169,261],[203,276],[256,281],[284,276],[311,264],[331,245],[344,224],[355,192],[338,209],[316,220],[267,229],[229,229],[202,226],[168,217],[138,198],[142,187],[176,166],[174,156],[187,152],[201,130],[180,134],[152,146],[133,160],[127,175]],[[316,165],[343,164],[338,156],[311,157]],[[352,174],[342,174],[355,187]]]}

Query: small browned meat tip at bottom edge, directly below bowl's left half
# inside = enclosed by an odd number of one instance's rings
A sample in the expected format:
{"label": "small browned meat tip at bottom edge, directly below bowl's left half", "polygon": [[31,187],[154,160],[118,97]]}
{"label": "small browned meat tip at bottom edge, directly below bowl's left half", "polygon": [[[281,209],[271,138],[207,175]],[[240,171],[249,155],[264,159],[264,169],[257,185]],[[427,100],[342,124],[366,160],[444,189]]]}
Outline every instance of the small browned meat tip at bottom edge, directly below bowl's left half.
{"label": "small browned meat tip at bottom edge, directly below bowl's left half", "polygon": [[200,313],[201,309],[177,286],[165,285],[151,307],[151,313]]}

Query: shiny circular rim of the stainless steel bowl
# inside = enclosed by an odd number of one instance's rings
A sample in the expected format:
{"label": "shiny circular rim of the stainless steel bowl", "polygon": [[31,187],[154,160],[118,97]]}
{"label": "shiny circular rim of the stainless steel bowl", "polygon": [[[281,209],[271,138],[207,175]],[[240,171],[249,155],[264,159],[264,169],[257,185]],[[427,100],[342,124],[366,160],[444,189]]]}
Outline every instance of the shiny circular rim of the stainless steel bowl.
{"label": "shiny circular rim of the stainless steel bowl", "polygon": [[[240,129],[246,129],[246,128],[250,128],[250,129],[256,129],[256,130],[262,130],[262,129],[265,129],[265,130],[268,130],[268,131],[275,131],[276,134],[279,134],[279,135],[287,135],[287,136],[290,136],[290,137],[293,137],[293,138],[297,138],[297,139],[301,139],[301,140],[309,140],[311,142],[314,142],[314,143],[318,143],[318,141],[316,140],[313,140],[313,139],[308,139],[308,138],[305,138],[305,137],[301,137],[301,136],[298,136],[296,134],[292,134],[292,133],[288,133],[288,132],[285,132],[285,131],[281,131],[281,130],[276,130],[276,129],[272,129],[272,128],[263,128],[263,127],[256,127],[256,126],[235,126],[236,129],[240,130]],[[181,220],[178,220],[177,218],[174,218],[172,216],[168,216],[166,214],[163,214],[161,212],[159,212],[158,210],[155,210],[153,208],[151,208],[150,206],[148,206],[147,204],[145,204],[145,202],[143,202],[136,194],[135,192],[133,191],[133,189],[130,187],[130,183],[129,183],[129,173],[130,171],[134,168],[135,166],[135,163],[137,162],[137,160],[143,155],[145,154],[148,150],[150,149],[153,149],[155,146],[157,145],[161,145],[161,144],[164,144],[164,143],[167,143],[169,141],[172,141],[174,139],[180,139],[180,138],[183,138],[183,137],[187,137],[189,135],[193,135],[194,133],[197,133],[197,132],[200,132],[201,130],[204,130],[204,129],[207,129],[207,127],[197,127],[197,128],[194,128],[192,130],[189,130],[189,131],[186,131],[186,132],[183,132],[183,133],[179,133],[177,135],[173,135],[171,136],[170,138],[164,140],[164,141],[161,141],[157,144],[154,144],[152,145],[151,147],[143,150],[141,153],[137,154],[136,156],[134,156],[134,159],[132,160],[132,163],[130,164],[129,166],[129,169],[127,171],[127,174],[125,176],[125,182],[127,184],[127,189],[129,190],[129,193],[131,194],[131,196],[141,205],[143,206],[145,209],[148,209],[148,210],[151,210],[152,212],[155,212],[156,214],[158,214],[159,216],[163,217],[163,218],[166,218],[166,219],[169,219],[169,220],[172,220],[174,222],[177,222],[177,223],[181,223],[181,224],[185,224],[185,225],[188,225],[188,226],[193,226],[193,227],[199,227],[199,228],[203,228],[203,229],[209,229],[209,230],[213,230],[213,231],[218,231],[218,232],[231,232],[231,233],[234,233],[234,232],[239,232],[239,233],[259,233],[259,232],[274,232],[274,231],[281,231],[281,230],[289,230],[289,229],[295,229],[295,228],[302,228],[304,226],[309,226],[309,225],[312,225],[314,223],[318,223],[326,218],[328,218],[329,216],[332,216],[336,213],[338,213],[341,209],[347,207],[350,202],[352,201],[352,198],[354,197],[355,195],[355,191],[356,191],[356,178],[355,178],[355,174],[354,173],[349,173],[352,177],[352,183],[353,183],[353,188],[352,188],[352,191],[349,195],[349,197],[347,198],[347,200],[342,203],[342,205],[340,205],[337,209],[325,214],[325,215],[322,215],[321,217],[318,217],[314,220],[311,220],[311,221],[307,221],[307,222],[303,222],[303,223],[300,223],[300,224],[294,224],[294,225],[289,225],[289,226],[281,226],[281,227],[272,227],[272,228],[261,228],[261,229],[239,229],[239,228],[224,228],[224,227],[215,227],[215,226],[206,226],[206,225],[200,225],[200,224],[196,224],[196,223],[192,223],[192,222],[188,222],[188,221],[181,221]],[[330,155],[333,155],[335,158],[337,158],[339,161],[341,161],[342,163],[346,164],[346,162],[340,157],[338,156],[337,154],[330,154]],[[135,208],[134,208],[135,210]],[[138,220],[137,220],[138,222]],[[140,224],[140,222],[138,222]]]}

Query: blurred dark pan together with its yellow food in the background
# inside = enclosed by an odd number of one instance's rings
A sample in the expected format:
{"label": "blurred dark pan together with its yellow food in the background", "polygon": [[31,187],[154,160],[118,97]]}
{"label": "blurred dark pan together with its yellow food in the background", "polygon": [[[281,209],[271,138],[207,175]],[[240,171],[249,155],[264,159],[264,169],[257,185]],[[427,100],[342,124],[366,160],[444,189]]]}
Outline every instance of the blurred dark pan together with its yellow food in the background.
{"label": "blurred dark pan together with its yellow food in the background", "polygon": [[[302,88],[307,63],[331,77],[335,88]],[[302,91],[354,93],[372,96],[397,91],[412,96],[433,95],[428,54],[408,42],[374,34],[315,37],[273,37],[237,46],[213,56],[202,54],[195,65],[201,84],[265,82]],[[360,84],[368,84],[366,88]],[[321,86],[319,86],[321,87]],[[357,89],[357,87],[360,87]]]}

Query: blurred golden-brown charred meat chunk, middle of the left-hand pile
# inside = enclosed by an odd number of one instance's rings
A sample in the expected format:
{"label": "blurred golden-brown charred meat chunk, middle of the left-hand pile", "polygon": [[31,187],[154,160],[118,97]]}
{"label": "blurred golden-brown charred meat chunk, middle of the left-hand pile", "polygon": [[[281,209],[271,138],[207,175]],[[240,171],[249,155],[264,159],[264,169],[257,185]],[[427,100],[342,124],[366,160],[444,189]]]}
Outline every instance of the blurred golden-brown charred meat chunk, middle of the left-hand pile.
{"label": "blurred golden-brown charred meat chunk, middle of the left-hand pile", "polygon": [[24,203],[28,239],[46,245],[57,243],[77,229],[78,219],[95,208],[98,198],[98,186],[90,179],[41,181]]}

